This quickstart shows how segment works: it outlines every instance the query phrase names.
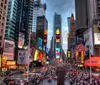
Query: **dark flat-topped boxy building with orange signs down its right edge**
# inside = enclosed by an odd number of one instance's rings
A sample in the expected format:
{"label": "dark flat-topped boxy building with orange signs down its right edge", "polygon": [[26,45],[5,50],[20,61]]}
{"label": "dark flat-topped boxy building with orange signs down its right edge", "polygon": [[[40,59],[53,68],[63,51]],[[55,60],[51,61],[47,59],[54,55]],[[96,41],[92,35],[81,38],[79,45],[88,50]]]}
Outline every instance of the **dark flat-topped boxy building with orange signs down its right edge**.
{"label": "dark flat-topped boxy building with orange signs down its right edge", "polygon": [[[41,38],[41,50],[47,45],[48,21],[45,16],[37,17],[36,39]],[[37,41],[38,43],[39,41]],[[39,47],[38,47],[39,48]]]}

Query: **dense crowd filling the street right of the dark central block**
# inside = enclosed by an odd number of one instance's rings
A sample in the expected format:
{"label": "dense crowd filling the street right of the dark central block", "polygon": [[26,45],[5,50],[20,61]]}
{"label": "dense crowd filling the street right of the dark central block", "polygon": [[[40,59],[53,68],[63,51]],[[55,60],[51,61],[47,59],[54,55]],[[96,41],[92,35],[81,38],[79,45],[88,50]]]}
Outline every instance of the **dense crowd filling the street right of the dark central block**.
{"label": "dense crowd filling the street right of the dark central block", "polygon": [[90,75],[89,70],[77,70],[71,65],[66,69],[66,79],[71,85],[100,85],[100,76]]}

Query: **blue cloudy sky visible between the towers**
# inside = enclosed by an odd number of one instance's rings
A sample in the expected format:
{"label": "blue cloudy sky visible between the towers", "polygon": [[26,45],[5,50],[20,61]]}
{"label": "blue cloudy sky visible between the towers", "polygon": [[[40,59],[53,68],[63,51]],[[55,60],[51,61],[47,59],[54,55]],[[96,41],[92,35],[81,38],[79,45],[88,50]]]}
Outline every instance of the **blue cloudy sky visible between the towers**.
{"label": "blue cloudy sky visible between the towers", "polygon": [[[42,0],[42,2],[47,5],[48,41],[50,41],[53,34],[53,16],[55,12],[62,16],[62,36],[65,36],[68,32],[67,17],[70,17],[71,13],[75,14],[74,0]],[[66,43],[66,41],[64,42]],[[48,44],[50,44],[50,42],[48,42]]]}

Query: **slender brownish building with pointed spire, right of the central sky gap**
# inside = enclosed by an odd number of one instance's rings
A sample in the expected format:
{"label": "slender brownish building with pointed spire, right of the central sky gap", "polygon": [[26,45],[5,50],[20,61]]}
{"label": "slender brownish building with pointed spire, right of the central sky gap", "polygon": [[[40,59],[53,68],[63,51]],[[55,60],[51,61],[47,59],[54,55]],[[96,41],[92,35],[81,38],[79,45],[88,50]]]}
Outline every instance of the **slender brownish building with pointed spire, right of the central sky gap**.
{"label": "slender brownish building with pointed spire, right of the central sky gap", "polygon": [[68,34],[68,51],[67,51],[67,58],[71,58],[72,56],[74,56],[74,47],[75,47],[75,19],[74,19],[74,15],[71,14],[71,17],[68,21],[68,23],[70,23],[69,27],[68,28],[70,31],[69,31],[69,34]]}

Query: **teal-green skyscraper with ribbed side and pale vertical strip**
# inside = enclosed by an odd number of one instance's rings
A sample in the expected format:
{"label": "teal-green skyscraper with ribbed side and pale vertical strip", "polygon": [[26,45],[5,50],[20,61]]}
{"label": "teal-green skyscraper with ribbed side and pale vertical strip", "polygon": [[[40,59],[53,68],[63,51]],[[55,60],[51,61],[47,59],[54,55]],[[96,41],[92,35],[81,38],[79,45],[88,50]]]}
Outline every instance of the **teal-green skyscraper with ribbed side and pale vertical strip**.
{"label": "teal-green skyscraper with ribbed side and pale vertical strip", "polygon": [[17,0],[9,0],[8,2],[8,12],[7,12],[7,23],[6,23],[6,33],[5,39],[13,40],[16,28],[16,16],[17,16]]}

